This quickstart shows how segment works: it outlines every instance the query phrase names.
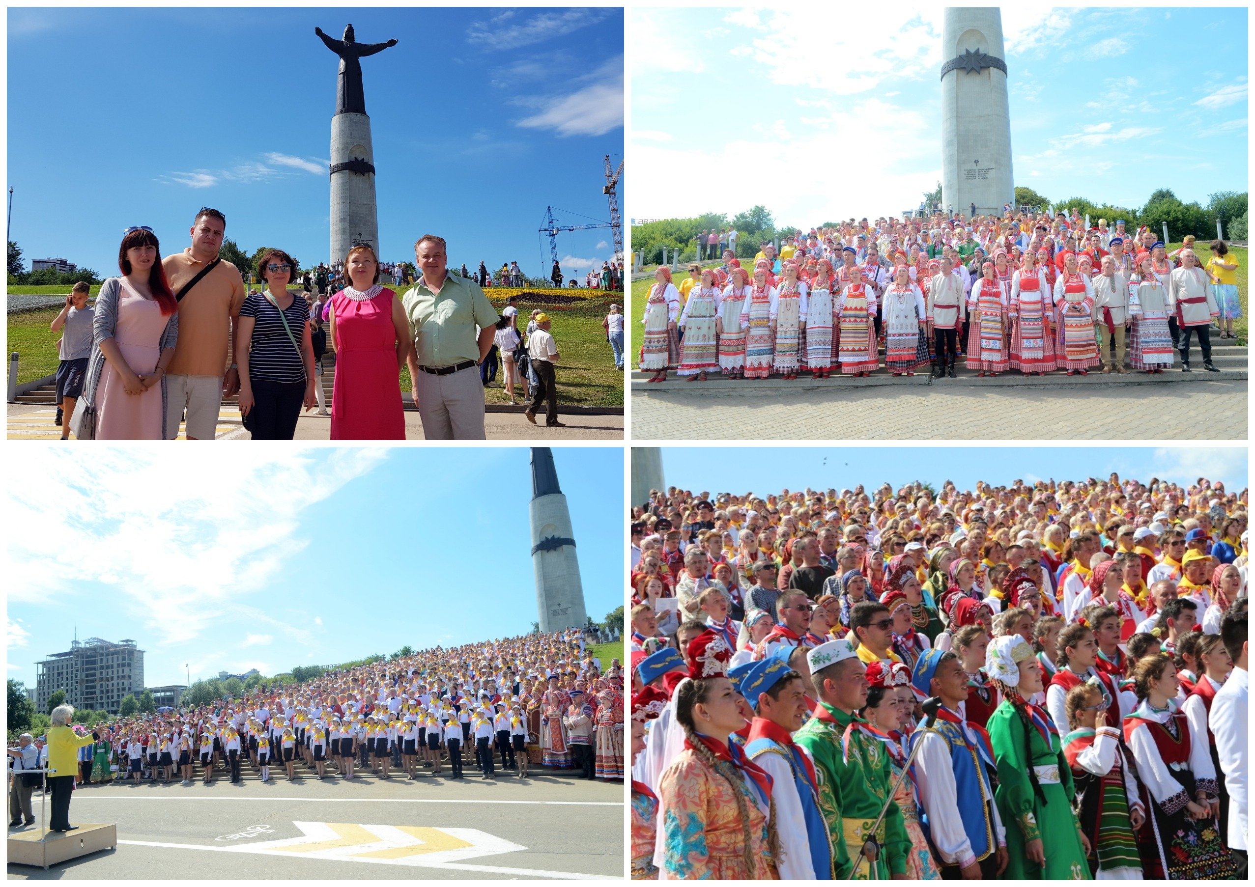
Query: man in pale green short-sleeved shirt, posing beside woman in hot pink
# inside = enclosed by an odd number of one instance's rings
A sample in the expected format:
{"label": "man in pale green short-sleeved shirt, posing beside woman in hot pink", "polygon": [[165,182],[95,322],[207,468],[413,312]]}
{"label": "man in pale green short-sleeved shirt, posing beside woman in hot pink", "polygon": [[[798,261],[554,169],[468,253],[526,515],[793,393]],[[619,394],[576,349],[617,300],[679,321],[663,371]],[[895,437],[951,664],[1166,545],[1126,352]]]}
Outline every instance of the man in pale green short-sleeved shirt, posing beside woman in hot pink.
{"label": "man in pale green short-sleeved shirt, posing beside woman in hot pink", "polygon": [[479,363],[492,348],[497,310],[473,280],[448,274],[443,238],[423,235],[414,243],[414,260],[422,277],[402,304],[414,340],[405,363],[423,437],[483,440]]}

